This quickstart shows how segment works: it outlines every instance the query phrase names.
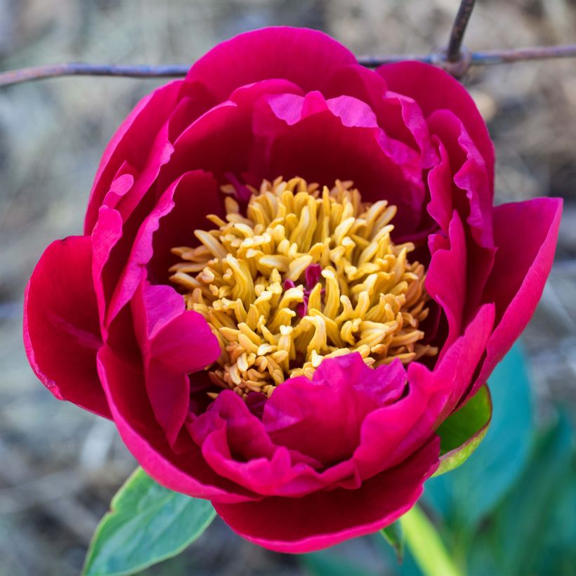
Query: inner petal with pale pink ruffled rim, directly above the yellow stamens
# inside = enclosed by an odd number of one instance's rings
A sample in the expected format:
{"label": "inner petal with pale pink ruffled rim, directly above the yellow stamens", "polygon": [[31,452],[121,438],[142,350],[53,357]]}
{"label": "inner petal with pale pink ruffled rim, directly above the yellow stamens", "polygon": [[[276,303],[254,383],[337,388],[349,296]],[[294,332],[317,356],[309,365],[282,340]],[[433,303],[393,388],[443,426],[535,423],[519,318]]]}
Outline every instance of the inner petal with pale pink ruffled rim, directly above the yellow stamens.
{"label": "inner petal with pale pink ruffled rim, directly above the yellow stamens", "polygon": [[388,156],[386,135],[361,100],[270,96],[254,108],[258,136],[250,171],[258,178],[301,176],[331,185],[351,180],[362,199],[388,199],[398,206],[396,233],[414,231],[421,220],[424,187],[414,165]]}

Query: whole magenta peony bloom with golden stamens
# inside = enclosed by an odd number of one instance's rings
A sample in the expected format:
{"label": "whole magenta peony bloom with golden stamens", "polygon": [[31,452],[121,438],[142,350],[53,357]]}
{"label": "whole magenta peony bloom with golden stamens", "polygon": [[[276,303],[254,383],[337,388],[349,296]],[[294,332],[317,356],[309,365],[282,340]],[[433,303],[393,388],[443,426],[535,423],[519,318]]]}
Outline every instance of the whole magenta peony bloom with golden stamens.
{"label": "whole magenta peony bloom with golden stamens", "polygon": [[251,542],[374,532],[417,501],[436,429],[551,268],[561,201],[493,207],[493,185],[486,126],[442,70],[242,34],[110,141],[84,235],[27,287],[30,364]]}

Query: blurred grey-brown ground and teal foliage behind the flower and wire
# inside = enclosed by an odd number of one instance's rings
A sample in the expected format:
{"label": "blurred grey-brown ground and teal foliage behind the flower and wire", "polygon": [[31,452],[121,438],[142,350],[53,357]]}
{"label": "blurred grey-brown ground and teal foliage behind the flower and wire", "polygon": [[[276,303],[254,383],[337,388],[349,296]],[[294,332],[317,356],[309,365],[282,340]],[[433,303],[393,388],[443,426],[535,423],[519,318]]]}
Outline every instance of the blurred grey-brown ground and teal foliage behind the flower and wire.
{"label": "blurred grey-brown ground and teal foliage behind the flower and wire", "polygon": [[[457,0],[0,0],[0,70],[81,60],[190,64],[268,25],[325,30],[358,54],[447,41]],[[478,0],[471,49],[571,43],[574,0]],[[71,77],[0,89],[0,575],[74,575],[135,462],[114,426],[56,401],[22,347],[22,292],[52,240],[81,233],[107,140],[162,81]],[[565,200],[535,318],[492,379],[495,421],[426,509],[471,574],[576,574],[576,60],[476,67],[465,79],[497,151],[497,202]],[[527,359],[527,360],[526,360]],[[472,545],[473,542],[473,545]],[[303,558],[243,542],[220,521],[179,575],[417,574],[376,535]]]}

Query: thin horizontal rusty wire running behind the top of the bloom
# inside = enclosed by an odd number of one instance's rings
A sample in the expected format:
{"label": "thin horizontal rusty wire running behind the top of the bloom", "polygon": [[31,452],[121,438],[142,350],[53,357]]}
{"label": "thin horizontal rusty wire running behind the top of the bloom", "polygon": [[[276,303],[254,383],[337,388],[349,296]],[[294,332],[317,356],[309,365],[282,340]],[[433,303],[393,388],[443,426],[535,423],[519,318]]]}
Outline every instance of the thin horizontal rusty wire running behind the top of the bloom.
{"label": "thin horizontal rusty wire running behind the top of the bloom", "polygon": [[[522,60],[544,60],[546,58],[576,58],[576,44],[565,46],[537,46],[535,48],[511,48],[509,50],[488,50],[469,53],[469,65],[488,66],[507,64]],[[368,68],[391,64],[402,60],[419,60],[450,70],[447,57],[443,53],[431,54],[390,54],[381,56],[360,56],[358,63]],[[31,68],[20,68],[0,72],[0,86],[21,84],[44,78],[63,76],[117,76],[129,78],[177,78],[188,72],[190,65],[109,65],[86,63],[63,63]]]}

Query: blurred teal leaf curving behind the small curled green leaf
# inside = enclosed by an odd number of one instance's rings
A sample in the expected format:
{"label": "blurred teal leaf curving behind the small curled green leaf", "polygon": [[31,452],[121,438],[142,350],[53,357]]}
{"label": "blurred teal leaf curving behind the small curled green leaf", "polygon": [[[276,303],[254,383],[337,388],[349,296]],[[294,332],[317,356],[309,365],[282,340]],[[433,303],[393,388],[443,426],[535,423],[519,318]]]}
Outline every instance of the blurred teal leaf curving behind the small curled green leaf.
{"label": "blurred teal leaf curving behind the small curled green leaf", "polygon": [[492,422],[478,450],[465,466],[426,483],[426,502],[459,539],[472,537],[482,518],[516,483],[532,443],[530,381],[520,346],[499,363],[488,385]]}

